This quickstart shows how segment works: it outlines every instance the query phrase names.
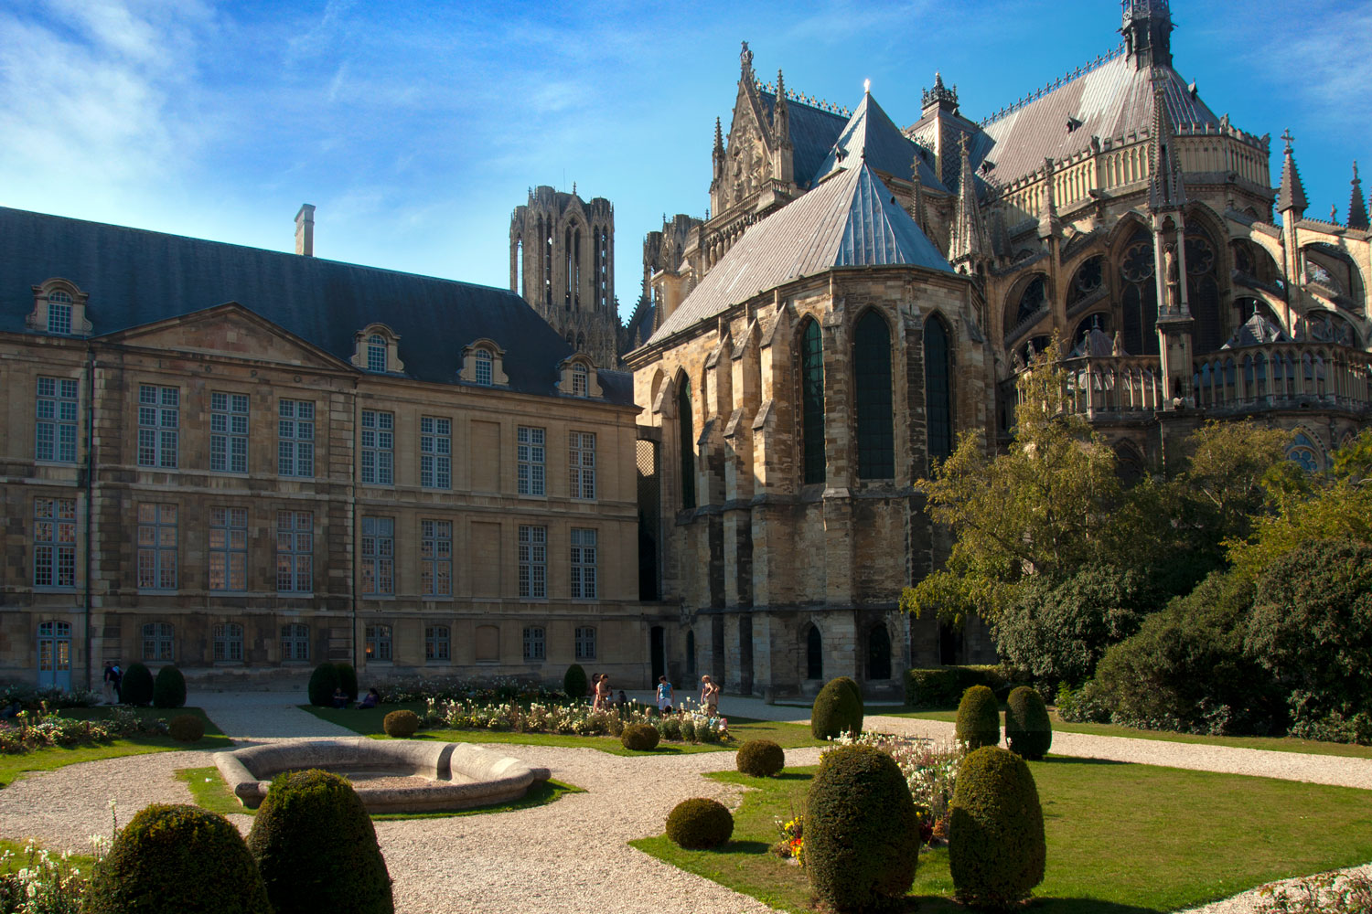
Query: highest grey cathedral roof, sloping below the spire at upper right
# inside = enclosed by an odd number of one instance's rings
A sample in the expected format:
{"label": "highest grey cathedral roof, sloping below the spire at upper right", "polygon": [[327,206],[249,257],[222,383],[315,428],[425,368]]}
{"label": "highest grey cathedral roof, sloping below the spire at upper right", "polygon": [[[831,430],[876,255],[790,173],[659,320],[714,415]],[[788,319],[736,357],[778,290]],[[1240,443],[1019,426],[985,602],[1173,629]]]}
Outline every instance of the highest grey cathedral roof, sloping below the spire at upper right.
{"label": "highest grey cathedral roof, sloping below the spire at upper right", "polygon": [[[1205,101],[1191,95],[1185,79],[1170,66],[1135,69],[1128,55],[1118,55],[1099,67],[1047,92],[1024,107],[982,125],[995,147],[986,155],[996,163],[996,180],[1008,184],[1043,167],[1045,158],[1065,159],[1091,145],[1091,137],[1114,138],[1131,130],[1144,132],[1152,123],[1152,74],[1163,78],[1168,115],[1173,126],[1220,126]],[[1081,126],[1067,132],[1067,118]],[[977,162],[980,164],[980,159]]]}

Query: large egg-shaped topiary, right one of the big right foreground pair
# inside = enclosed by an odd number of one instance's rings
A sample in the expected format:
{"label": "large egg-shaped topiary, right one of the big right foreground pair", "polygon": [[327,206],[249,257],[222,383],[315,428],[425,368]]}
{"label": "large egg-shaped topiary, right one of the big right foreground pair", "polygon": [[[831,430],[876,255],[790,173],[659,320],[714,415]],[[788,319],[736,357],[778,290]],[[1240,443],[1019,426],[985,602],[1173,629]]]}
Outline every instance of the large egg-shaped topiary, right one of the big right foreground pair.
{"label": "large egg-shaped topiary, right one of the big right foreground pair", "polygon": [[[999,745],[967,755],[948,814],[948,869],[958,900],[1010,907],[1029,898],[1043,881],[1047,847],[1039,788],[1025,761]],[[805,828],[809,837],[808,821]]]}

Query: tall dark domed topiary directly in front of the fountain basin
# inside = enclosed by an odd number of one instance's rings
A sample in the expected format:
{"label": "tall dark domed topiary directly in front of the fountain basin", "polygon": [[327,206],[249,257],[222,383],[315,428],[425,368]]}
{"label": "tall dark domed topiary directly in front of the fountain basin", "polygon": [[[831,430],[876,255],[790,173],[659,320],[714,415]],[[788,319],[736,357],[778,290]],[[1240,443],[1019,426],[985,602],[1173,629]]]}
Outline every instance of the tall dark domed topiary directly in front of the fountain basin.
{"label": "tall dark domed topiary directly in front of the fountain basin", "polygon": [[372,818],[338,774],[279,774],[252,819],[248,850],[276,914],[395,911]]}

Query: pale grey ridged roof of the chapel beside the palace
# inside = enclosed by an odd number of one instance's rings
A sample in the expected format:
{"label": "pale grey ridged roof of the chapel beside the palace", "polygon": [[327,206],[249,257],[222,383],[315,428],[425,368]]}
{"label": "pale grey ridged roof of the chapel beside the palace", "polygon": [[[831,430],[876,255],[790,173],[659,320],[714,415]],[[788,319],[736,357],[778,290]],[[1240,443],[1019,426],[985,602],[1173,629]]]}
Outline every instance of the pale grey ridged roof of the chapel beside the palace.
{"label": "pale grey ridged roof of the chapel beside the palace", "polygon": [[903,264],[954,271],[870,166],[845,169],[749,226],[649,343],[792,280],[840,266]]}

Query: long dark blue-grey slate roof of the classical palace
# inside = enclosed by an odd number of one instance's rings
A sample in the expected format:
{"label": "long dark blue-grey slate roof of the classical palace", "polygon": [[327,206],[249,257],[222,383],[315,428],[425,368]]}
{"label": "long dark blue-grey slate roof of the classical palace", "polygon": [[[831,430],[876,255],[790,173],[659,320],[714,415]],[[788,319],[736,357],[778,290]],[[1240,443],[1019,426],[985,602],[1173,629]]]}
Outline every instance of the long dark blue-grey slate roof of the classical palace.
{"label": "long dark blue-grey slate roof of the classical palace", "polygon": [[[554,395],[571,347],[513,292],[353,263],[0,207],[0,330],[32,333],[32,286],[62,277],[88,293],[96,336],[226,301],[347,362],[373,322],[399,334],[405,375],[457,384],[462,348],[505,351],[510,389]],[[600,370],[605,399],[632,403],[632,381]]]}

